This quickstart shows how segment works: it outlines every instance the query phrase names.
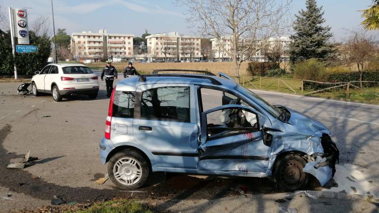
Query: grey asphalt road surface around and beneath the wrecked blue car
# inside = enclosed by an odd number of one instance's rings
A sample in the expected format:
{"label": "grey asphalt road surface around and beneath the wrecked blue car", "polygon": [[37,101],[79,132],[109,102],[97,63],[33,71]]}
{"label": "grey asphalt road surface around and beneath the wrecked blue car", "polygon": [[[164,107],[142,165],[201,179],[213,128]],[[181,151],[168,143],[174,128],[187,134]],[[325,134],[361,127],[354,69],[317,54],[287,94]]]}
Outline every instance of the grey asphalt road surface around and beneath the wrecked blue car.
{"label": "grey asphalt road surface around and beneath the wrecked blue car", "polygon": [[[104,135],[109,99],[105,82],[100,84],[96,100],[77,96],[55,103],[49,95],[16,95],[18,83],[0,83],[0,212],[49,205],[54,195],[67,203],[132,197],[173,212],[246,212],[249,209],[244,208],[250,205],[255,205],[250,209],[253,212],[280,212],[282,207],[298,212],[362,212],[376,208],[362,199],[338,197],[294,195],[279,202],[283,195],[266,178],[154,174],[147,186],[134,192],[115,189],[109,180],[95,185],[94,181],[107,172],[100,162],[98,143]],[[354,173],[363,174],[370,190],[379,191],[379,106],[256,93],[271,104],[288,106],[324,123],[337,141],[341,165],[355,165]],[[23,157],[28,150],[38,157],[36,162],[22,170],[6,169],[9,162]],[[241,190],[245,195],[240,195]]]}

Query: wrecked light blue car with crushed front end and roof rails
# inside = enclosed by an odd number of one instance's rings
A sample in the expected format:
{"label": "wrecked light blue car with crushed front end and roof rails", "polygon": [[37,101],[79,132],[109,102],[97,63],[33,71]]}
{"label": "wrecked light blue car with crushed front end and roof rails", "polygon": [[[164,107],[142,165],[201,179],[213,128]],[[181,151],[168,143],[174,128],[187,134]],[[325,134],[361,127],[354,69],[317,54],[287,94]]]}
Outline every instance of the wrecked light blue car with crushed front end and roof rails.
{"label": "wrecked light blue car with crushed front end and roof rails", "polygon": [[109,178],[124,189],[172,172],[272,177],[293,191],[311,177],[326,184],[339,160],[322,123],[268,104],[224,73],[189,70],[121,80],[100,148]]}

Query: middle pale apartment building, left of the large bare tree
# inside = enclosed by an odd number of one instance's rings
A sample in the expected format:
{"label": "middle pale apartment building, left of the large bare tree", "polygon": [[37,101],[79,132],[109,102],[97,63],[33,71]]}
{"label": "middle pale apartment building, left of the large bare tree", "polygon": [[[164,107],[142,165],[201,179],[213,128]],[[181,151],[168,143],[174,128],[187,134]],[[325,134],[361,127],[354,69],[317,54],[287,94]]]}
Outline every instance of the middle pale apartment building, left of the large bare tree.
{"label": "middle pale apartment building, left of the large bare tree", "polygon": [[201,37],[183,36],[178,32],[146,36],[148,57],[153,60],[199,60],[201,55]]}

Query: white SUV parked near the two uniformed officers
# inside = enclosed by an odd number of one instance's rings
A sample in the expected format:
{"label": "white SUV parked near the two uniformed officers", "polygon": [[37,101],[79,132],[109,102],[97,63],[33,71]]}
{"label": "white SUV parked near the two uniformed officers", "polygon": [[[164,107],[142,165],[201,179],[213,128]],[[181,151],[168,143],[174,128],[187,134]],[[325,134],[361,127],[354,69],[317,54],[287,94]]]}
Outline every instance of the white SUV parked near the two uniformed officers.
{"label": "white SUV parked near the two uniformed officers", "polygon": [[49,64],[36,71],[32,78],[34,96],[40,93],[53,95],[56,102],[63,96],[83,94],[95,99],[99,92],[99,80],[95,73],[82,64]]}

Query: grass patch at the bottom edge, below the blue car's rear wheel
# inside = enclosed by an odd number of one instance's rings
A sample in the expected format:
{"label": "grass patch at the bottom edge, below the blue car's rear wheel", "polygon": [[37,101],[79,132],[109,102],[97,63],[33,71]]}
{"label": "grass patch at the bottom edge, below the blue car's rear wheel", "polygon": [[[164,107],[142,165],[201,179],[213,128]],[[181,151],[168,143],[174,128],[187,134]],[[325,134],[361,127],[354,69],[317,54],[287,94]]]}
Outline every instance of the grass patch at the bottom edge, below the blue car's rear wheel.
{"label": "grass patch at the bottom edge, below the blue car's rear wheel", "polygon": [[117,199],[106,202],[98,202],[88,209],[67,211],[65,213],[153,213],[136,201]]}

